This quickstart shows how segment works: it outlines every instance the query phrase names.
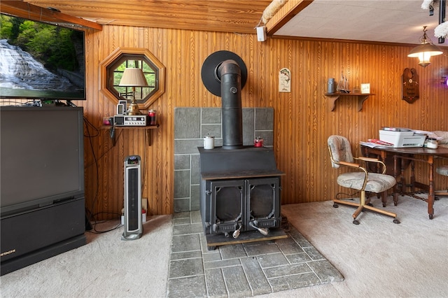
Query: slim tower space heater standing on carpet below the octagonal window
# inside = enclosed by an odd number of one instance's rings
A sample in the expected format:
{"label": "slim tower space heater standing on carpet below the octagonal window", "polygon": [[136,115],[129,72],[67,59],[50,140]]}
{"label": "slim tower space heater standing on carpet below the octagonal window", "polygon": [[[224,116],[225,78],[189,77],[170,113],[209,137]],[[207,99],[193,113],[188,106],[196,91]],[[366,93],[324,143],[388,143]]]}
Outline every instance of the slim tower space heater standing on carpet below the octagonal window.
{"label": "slim tower space heater standing on carpet below the octagonal window", "polygon": [[139,239],[143,234],[141,224],[141,158],[125,158],[125,216],[122,240]]}

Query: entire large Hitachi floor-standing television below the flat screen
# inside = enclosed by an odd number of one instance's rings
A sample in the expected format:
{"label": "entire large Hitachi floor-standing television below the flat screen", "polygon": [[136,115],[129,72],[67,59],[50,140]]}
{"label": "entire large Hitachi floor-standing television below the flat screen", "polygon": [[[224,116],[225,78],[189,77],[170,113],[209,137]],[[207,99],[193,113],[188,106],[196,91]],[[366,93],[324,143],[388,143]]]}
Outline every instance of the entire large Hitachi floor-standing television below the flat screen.
{"label": "entire large Hitachi floor-standing television below the flat screen", "polygon": [[85,245],[83,108],[0,107],[0,274]]}

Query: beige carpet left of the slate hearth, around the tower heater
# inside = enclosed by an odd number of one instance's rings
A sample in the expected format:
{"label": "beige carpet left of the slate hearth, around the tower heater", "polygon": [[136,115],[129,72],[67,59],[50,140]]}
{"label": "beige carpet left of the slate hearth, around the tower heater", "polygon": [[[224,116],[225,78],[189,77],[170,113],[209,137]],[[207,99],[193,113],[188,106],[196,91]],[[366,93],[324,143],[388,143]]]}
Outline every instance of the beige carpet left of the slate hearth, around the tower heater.
{"label": "beige carpet left of the slate hearth, around the tower heater", "polygon": [[87,245],[1,276],[1,297],[165,297],[172,216],[150,218],[141,239],[122,234],[86,233]]}

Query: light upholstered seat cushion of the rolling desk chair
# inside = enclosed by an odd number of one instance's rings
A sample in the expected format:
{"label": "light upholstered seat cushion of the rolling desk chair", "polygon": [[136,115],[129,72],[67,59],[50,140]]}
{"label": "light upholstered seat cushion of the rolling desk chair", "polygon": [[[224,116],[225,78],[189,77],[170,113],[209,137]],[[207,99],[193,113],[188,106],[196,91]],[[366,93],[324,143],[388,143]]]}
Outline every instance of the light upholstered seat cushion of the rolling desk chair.
{"label": "light upholstered seat cushion of the rolling desk chair", "polygon": [[[365,173],[363,172],[350,172],[342,173],[337,177],[337,184],[353,188],[354,190],[362,190],[364,183]],[[384,192],[395,185],[396,180],[393,176],[384,175],[380,173],[369,173],[367,185],[365,185],[366,192]]]}

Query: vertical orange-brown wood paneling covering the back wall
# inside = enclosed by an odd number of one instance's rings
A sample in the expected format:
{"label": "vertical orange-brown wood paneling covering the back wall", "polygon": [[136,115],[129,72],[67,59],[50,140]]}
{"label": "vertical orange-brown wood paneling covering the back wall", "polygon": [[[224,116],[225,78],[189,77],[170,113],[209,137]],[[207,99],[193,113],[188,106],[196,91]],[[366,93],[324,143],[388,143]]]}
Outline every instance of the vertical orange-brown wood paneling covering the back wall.
{"label": "vertical orange-brown wood paneling covering the back wall", "polygon": [[[242,105],[274,108],[274,151],[279,169],[286,173],[282,204],[329,200],[342,191],[335,183],[339,170],[331,168],[328,157],[330,134],[349,137],[358,153],[358,142],[377,137],[383,125],[448,130],[444,117],[448,90],[440,84],[446,75],[442,73],[448,64],[446,55],[433,57],[433,63],[423,69],[406,57],[406,46],[275,38],[260,43],[255,34],[111,25],[86,35],[88,98],[81,105],[93,125],[99,127],[102,116],[115,111],[115,105],[99,92],[98,64],[118,47],[136,46],[151,50],[167,68],[166,92],[152,106],[158,111],[160,127],[153,130],[151,147],[146,146],[144,132],[118,133],[115,147],[104,131],[92,138],[95,155],[100,157],[99,188],[95,166],[90,165],[92,149],[85,140],[87,206],[98,190],[94,212],[118,213],[123,208],[123,162],[130,154],[144,155],[143,196],[148,197],[150,214],[173,212],[174,108],[221,106],[221,99],[207,91],[200,77],[204,59],[217,50],[236,52],[246,63],[248,81],[242,90]],[[290,93],[278,92],[282,67],[292,72]],[[416,68],[421,80],[421,99],[414,104],[400,99],[405,67]],[[323,95],[326,81],[330,77],[338,81],[341,71],[350,76],[351,87],[370,83],[375,95],[360,112],[349,98],[339,99],[335,111],[328,108]],[[424,177],[426,169],[421,167]],[[446,178],[435,179],[446,183]]]}

